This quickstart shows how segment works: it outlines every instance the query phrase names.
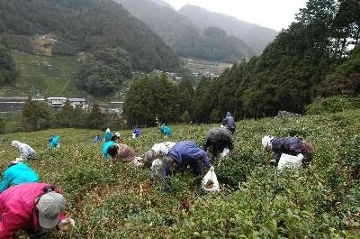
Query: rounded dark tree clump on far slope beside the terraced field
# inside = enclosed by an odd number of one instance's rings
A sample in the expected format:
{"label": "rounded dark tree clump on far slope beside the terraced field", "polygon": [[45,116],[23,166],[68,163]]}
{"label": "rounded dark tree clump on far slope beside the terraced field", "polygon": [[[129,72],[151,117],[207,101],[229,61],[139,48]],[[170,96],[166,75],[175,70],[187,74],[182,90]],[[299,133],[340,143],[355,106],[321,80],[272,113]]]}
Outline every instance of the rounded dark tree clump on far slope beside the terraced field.
{"label": "rounded dark tree clump on far slope beside the terraced field", "polygon": [[121,48],[95,51],[85,56],[75,74],[76,86],[94,96],[112,94],[125,78],[131,78],[130,57]]}

